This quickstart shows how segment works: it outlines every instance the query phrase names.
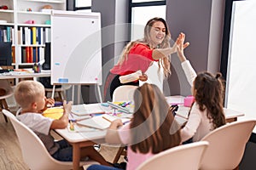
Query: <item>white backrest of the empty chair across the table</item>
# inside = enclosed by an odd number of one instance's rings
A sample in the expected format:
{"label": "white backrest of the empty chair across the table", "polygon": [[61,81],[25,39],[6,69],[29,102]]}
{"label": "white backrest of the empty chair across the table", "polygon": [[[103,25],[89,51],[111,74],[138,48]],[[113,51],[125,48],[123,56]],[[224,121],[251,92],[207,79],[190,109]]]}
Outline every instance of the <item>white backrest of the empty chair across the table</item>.
{"label": "white backrest of the empty chair across the table", "polygon": [[133,100],[133,94],[137,86],[123,85],[115,88],[113,91],[113,101],[128,101]]}

